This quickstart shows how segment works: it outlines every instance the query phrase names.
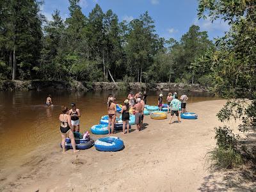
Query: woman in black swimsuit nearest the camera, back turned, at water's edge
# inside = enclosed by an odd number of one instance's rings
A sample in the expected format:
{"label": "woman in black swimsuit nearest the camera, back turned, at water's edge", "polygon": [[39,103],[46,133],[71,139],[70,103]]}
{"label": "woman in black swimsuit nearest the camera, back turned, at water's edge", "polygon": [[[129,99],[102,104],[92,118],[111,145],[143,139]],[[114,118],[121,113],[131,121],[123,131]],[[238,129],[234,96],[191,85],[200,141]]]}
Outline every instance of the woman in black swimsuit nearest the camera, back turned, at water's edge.
{"label": "woman in black swimsuit nearest the camera, back turned, at water's edge", "polygon": [[70,129],[70,127],[72,127],[71,125],[71,116],[68,115],[68,108],[65,106],[61,107],[61,111],[62,114],[60,114],[59,116],[59,120],[60,120],[60,132],[61,132],[61,146],[63,148],[63,153],[65,153],[66,148],[65,148],[65,141],[66,138],[70,138],[71,140],[71,145],[73,148],[73,152],[79,152],[79,150],[76,150],[76,142],[75,142],[75,138],[74,138],[74,134],[72,132],[72,130]]}

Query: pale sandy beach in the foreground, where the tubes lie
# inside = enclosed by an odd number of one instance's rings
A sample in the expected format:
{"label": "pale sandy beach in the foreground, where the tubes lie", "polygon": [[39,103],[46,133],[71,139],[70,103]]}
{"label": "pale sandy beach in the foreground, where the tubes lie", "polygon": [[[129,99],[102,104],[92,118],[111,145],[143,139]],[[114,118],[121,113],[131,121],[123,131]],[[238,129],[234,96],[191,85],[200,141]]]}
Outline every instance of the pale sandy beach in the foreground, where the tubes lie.
{"label": "pale sandy beach in the foreground, where the tubes lie", "polygon": [[115,134],[125,143],[120,152],[99,152],[92,147],[78,154],[61,154],[60,141],[52,141],[24,159],[0,166],[0,191],[234,189],[236,186],[229,186],[225,175],[212,176],[205,170],[205,154],[215,146],[213,128],[220,125],[216,113],[225,102],[189,104],[189,111],[199,118],[182,120],[181,124],[169,125],[168,120],[146,116],[143,131]]}

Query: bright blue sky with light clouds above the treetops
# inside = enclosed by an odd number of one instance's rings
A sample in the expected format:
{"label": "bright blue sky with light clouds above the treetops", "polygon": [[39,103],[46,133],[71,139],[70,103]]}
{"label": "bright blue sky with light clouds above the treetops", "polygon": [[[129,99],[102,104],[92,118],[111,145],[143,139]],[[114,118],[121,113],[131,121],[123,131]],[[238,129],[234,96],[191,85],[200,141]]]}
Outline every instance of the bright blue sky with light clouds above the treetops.
{"label": "bright blue sky with light clouds above the treetops", "polygon": [[[68,17],[68,0],[44,1],[42,13],[47,19],[51,19],[51,14],[56,9],[60,10],[61,17]],[[113,10],[120,21],[130,21],[148,11],[155,21],[157,34],[166,39],[172,37],[179,40],[192,24],[200,26],[202,31],[208,31],[211,39],[222,36],[224,31],[229,29],[228,24],[221,20],[213,23],[209,19],[198,20],[197,0],[81,0],[80,5],[84,15],[88,16],[96,3],[104,12]]]}

